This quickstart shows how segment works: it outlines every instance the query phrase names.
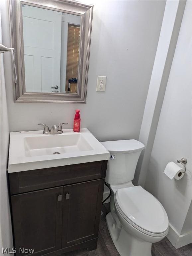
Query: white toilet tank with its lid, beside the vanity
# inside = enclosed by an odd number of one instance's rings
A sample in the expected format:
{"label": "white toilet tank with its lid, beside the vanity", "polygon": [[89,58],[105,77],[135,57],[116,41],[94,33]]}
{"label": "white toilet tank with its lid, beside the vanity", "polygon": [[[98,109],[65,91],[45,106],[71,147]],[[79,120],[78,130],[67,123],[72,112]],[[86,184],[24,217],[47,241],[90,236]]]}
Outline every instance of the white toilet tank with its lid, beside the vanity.
{"label": "white toilet tank with its lid, beside the vanity", "polygon": [[119,184],[132,181],[139,156],[144,144],[137,140],[104,141],[101,144],[109,151],[105,181],[108,184]]}

